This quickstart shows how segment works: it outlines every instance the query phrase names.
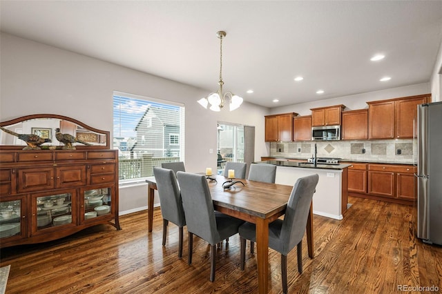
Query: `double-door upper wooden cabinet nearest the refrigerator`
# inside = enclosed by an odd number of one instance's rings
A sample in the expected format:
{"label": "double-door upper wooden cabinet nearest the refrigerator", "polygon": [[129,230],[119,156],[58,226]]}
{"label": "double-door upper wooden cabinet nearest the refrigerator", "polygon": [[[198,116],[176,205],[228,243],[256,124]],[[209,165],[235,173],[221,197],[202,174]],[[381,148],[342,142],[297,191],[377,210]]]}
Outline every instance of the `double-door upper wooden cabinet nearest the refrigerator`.
{"label": "double-door upper wooden cabinet nearest the refrigerator", "polygon": [[430,100],[427,94],[367,102],[369,139],[412,138],[416,134],[417,106]]}

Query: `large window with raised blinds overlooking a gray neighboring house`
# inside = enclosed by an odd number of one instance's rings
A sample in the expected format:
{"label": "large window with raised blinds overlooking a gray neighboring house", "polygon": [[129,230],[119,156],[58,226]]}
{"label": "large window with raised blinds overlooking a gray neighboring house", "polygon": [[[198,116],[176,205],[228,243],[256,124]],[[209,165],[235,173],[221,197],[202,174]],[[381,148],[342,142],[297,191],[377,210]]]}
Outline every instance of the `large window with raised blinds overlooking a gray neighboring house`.
{"label": "large window with raised blinds overlooking a gray neighboring house", "polygon": [[113,148],[120,181],[150,177],[162,162],[184,161],[184,106],[114,92]]}

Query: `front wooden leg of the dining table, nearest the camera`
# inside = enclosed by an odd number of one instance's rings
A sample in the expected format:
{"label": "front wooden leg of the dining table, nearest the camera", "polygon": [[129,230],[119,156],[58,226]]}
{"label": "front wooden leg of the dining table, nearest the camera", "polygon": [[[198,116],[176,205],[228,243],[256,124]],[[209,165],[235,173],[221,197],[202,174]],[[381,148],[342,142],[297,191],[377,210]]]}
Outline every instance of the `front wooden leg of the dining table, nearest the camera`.
{"label": "front wooden leg of the dining table, nearest the camera", "polygon": [[269,221],[256,218],[256,250],[258,259],[258,291],[269,288]]}

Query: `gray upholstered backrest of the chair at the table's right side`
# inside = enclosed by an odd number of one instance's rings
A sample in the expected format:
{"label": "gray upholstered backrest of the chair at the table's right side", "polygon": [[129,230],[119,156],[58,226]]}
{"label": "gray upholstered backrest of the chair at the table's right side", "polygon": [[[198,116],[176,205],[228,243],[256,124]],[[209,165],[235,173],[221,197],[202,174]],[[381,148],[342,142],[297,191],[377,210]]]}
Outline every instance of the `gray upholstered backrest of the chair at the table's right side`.
{"label": "gray upholstered backrest of the chair at the table's right side", "polygon": [[311,199],[318,180],[317,174],[301,177],[291,190],[280,235],[283,255],[287,255],[304,236]]}

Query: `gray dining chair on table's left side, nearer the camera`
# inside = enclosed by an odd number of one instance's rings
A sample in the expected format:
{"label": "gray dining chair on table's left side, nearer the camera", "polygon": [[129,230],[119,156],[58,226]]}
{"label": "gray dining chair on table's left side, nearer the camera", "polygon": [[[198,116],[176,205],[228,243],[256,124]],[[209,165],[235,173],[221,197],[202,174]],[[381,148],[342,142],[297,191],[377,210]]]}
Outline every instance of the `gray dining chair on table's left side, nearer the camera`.
{"label": "gray dining chair on table's left side, nearer the camera", "polygon": [[188,263],[192,264],[193,235],[197,235],[211,245],[210,281],[215,280],[216,245],[227,237],[238,233],[244,223],[241,219],[224,215],[213,209],[213,202],[204,175],[177,173],[180,182],[184,215],[189,232]]}

